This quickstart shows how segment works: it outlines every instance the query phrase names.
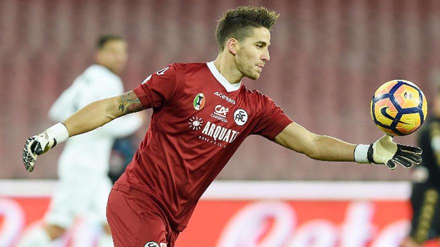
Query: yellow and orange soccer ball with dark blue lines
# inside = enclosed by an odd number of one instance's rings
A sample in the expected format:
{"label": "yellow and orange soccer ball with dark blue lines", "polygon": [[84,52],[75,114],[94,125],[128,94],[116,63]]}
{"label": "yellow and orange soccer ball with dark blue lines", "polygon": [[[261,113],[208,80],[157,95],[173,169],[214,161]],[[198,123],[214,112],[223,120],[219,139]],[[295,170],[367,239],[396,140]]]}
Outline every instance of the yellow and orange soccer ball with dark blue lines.
{"label": "yellow and orange soccer ball with dark blue lines", "polygon": [[406,80],[383,83],[374,93],[370,108],[376,126],[392,136],[411,134],[421,126],[427,114],[423,92]]}

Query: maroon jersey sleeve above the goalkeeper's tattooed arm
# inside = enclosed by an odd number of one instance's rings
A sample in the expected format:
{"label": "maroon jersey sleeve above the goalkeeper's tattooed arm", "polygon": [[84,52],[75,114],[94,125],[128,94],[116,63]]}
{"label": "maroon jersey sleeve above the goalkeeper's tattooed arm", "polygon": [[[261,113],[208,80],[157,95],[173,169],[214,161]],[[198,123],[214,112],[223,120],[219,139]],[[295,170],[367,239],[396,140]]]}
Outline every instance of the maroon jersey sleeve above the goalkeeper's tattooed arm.
{"label": "maroon jersey sleeve above the goalkeeper's tattooed arm", "polygon": [[161,107],[171,100],[176,85],[176,65],[171,64],[146,77],[133,91],[143,107]]}

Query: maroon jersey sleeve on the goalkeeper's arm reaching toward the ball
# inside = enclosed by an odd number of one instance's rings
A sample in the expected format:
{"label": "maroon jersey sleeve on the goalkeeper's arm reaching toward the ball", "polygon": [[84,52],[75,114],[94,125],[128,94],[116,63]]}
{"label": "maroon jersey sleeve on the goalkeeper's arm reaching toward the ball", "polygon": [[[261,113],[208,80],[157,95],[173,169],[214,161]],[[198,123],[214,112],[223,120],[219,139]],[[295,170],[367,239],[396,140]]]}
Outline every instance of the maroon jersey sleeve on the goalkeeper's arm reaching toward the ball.
{"label": "maroon jersey sleeve on the goalkeeper's arm reaching toward the ball", "polygon": [[268,96],[263,95],[263,105],[253,133],[271,141],[293,121]]}

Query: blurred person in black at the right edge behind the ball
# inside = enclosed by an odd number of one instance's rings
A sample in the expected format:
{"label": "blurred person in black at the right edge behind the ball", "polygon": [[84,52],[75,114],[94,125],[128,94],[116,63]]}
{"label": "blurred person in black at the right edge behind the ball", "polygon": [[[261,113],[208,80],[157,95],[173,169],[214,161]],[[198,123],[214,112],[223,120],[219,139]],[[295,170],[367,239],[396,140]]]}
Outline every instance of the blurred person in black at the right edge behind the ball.
{"label": "blurred person in black at the right edge behind the ball", "polygon": [[440,237],[440,87],[430,118],[418,130],[417,142],[423,150],[422,162],[412,171],[411,230],[401,247],[421,247]]}

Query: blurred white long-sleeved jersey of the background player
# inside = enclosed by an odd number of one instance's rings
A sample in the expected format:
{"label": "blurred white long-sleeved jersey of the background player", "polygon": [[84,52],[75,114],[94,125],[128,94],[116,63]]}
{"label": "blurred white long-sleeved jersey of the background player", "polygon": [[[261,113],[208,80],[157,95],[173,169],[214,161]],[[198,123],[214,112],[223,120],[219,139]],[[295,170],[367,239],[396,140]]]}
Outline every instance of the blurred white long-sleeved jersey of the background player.
{"label": "blurred white long-sleeved jersey of the background player", "polygon": [[[121,79],[104,66],[94,64],[62,92],[48,115],[53,121],[60,122],[91,102],[122,93]],[[129,114],[69,138],[58,160],[59,177],[106,176],[114,139],[132,134],[141,124],[138,114]]]}

